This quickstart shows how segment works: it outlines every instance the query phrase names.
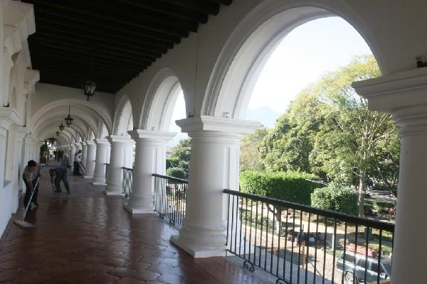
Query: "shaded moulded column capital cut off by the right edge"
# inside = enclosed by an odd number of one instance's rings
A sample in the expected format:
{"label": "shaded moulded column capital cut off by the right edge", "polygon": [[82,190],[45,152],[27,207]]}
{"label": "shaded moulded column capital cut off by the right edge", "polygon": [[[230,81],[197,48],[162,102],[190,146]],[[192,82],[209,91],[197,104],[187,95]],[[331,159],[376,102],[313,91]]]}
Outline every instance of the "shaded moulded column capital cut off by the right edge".
{"label": "shaded moulded column capital cut off by the right edge", "polygon": [[401,136],[427,133],[427,68],[354,82],[352,87],[374,111],[389,113]]}

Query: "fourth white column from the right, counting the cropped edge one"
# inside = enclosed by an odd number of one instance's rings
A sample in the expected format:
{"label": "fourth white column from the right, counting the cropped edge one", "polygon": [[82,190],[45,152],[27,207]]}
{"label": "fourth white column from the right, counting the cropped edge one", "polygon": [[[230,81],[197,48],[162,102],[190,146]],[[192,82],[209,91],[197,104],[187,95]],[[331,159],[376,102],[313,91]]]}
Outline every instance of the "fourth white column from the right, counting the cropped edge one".
{"label": "fourth white column from the right, counting the cropped edge one", "polygon": [[108,166],[108,181],[105,187],[105,195],[122,194],[122,167],[126,166],[128,156],[132,153],[135,141],[127,136],[107,136],[111,143],[110,165]]}

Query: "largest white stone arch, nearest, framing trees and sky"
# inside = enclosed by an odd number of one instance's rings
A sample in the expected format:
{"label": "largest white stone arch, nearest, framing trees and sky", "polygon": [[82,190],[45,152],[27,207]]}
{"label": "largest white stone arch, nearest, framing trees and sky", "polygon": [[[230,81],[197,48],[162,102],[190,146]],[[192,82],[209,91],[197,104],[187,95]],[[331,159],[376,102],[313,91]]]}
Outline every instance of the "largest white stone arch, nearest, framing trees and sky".
{"label": "largest white stone arch, nearest, framing trees and sky", "polygon": [[369,27],[342,0],[266,0],[236,26],[221,50],[206,87],[201,114],[241,119],[265,62],[285,35],[317,18],[339,16],[371,48],[381,72],[385,60]]}

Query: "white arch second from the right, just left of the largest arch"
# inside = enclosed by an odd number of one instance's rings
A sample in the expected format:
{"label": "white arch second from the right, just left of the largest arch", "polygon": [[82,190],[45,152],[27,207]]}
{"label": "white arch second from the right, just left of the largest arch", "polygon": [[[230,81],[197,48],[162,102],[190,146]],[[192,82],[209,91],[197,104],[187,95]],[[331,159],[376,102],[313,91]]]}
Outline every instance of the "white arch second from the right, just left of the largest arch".
{"label": "white arch second from the right, just left of the largest arch", "polygon": [[157,72],[149,84],[142,107],[139,119],[141,129],[169,131],[172,112],[180,92],[181,84],[172,70],[164,68]]}

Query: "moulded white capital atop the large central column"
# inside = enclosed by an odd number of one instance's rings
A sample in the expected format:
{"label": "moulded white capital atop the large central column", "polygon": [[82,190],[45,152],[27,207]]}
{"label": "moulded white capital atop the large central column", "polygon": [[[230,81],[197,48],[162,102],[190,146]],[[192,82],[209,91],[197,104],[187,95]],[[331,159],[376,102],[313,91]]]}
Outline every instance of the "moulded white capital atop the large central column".
{"label": "moulded white capital atop the large central column", "polygon": [[226,136],[241,137],[253,133],[255,129],[261,126],[258,121],[203,115],[177,120],[176,124],[181,127],[182,132],[189,133],[190,136],[200,132],[213,132],[216,133],[216,136],[219,133],[227,133]]}

